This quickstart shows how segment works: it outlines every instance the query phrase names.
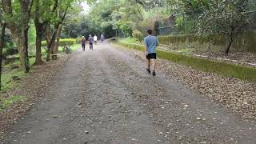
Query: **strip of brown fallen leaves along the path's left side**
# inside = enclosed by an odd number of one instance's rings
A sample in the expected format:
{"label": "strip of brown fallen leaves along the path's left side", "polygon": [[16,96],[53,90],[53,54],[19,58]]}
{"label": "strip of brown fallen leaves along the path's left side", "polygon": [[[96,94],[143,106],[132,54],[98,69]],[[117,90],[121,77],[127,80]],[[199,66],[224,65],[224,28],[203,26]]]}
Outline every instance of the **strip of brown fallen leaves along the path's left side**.
{"label": "strip of brown fallen leaves along the path's left side", "polygon": [[3,95],[4,98],[11,98],[14,95],[26,96],[23,101],[15,102],[5,110],[0,110],[0,139],[3,132],[11,126],[18,118],[29,110],[39,98],[42,98],[47,87],[51,86],[50,80],[53,75],[64,66],[65,62],[73,54],[62,54],[58,61],[46,63],[42,66],[33,66],[30,77],[22,79],[22,85],[16,89],[10,90]]}

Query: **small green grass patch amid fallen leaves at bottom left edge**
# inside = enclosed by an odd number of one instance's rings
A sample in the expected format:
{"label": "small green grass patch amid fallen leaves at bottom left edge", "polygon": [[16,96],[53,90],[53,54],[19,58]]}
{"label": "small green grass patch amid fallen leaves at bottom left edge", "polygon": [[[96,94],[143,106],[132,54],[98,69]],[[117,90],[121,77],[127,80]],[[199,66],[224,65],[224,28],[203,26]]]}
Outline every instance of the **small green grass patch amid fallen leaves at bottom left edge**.
{"label": "small green grass patch amid fallen leaves at bottom left edge", "polygon": [[0,111],[6,109],[8,106],[13,105],[15,102],[21,102],[26,100],[24,96],[12,96],[9,98],[0,99]]}

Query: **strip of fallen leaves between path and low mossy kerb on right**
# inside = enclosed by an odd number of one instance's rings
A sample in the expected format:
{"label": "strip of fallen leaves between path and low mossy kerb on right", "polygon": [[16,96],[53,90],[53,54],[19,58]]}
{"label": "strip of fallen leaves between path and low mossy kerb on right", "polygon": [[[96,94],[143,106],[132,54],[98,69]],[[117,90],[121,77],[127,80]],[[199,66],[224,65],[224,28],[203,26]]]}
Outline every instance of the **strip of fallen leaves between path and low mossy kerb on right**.
{"label": "strip of fallen leaves between path and low mossy kerb on right", "polygon": [[[119,46],[120,47],[120,46]],[[139,60],[144,54],[138,50],[120,48]],[[158,59],[158,70],[166,77],[182,82],[195,92],[220,102],[243,118],[256,119],[256,82],[244,82],[237,78],[226,78],[218,74],[205,73],[164,59]]]}

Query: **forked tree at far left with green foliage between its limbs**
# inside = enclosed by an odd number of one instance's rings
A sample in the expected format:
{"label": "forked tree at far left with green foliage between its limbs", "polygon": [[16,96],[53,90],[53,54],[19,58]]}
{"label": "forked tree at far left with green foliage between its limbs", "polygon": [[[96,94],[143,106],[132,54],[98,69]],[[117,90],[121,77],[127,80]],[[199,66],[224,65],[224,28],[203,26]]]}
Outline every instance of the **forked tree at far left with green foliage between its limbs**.
{"label": "forked tree at far left with green foliage between its limbs", "polygon": [[18,46],[19,59],[26,73],[30,70],[28,57],[28,30],[30,13],[34,0],[2,0],[3,17],[10,29],[14,42]]}

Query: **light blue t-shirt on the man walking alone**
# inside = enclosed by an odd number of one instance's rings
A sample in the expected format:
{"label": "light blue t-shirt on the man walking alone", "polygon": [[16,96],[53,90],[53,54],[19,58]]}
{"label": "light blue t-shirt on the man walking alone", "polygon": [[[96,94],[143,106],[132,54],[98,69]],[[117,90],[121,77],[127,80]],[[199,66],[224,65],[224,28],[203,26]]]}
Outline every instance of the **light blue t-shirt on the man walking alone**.
{"label": "light blue t-shirt on the man walking alone", "polygon": [[144,44],[146,46],[148,54],[156,53],[156,48],[158,46],[158,38],[149,35],[146,38],[144,38]]}

